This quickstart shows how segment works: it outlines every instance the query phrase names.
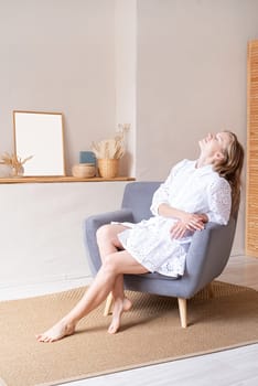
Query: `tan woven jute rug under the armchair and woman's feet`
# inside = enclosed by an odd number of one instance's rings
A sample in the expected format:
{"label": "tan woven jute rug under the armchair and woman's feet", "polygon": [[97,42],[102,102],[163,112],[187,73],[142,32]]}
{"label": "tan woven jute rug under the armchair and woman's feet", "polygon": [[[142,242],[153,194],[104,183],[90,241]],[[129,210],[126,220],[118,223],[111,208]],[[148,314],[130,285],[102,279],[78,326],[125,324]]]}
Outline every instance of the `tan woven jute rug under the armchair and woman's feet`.
{"label": "tan woven jute rug under the armchair and woman's feet", "polygon": [[57,385],[68,380],[212,353],[258,342],[258,292],[213,283],[189,301],[189,328],[180,326],[175,299],[128,292],[133,308],[120,332],[107,333],[104,305],[74,335],[39,343],[35,334],[64,315],[86,288],[0,303],[0,385]]}

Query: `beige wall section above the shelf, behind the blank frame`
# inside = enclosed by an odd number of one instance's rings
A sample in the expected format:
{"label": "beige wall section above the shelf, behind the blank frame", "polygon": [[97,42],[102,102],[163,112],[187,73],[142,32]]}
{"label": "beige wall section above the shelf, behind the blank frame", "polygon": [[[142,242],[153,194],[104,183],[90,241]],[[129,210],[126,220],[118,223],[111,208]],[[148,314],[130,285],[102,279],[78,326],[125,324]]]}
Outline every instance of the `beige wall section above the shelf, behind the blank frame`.
{"label": "beige wall section above the shelf, behind the blank frame", "polygon": [[68,172],[116,129],[115,0],[0,0],[0,153],[12,110],[62,111]]}

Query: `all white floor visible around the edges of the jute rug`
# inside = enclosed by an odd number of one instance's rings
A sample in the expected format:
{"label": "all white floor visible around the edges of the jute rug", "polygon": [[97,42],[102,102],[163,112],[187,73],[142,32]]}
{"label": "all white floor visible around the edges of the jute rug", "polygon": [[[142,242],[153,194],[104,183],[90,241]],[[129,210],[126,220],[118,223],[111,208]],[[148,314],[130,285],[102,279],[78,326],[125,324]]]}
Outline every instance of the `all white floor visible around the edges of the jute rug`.
{"label": "all white floor visible around the edges of the jute rug", "polygon": [[[238,256],[230,259],[219,278],[227,282],[249,286],[258,290],[258,259]],[[80,279],[49,282],[26,287],[0,287],[0,300],[18,299],[62,291],[87,282]],[[257,321],[258,323],[258,321]],[[219,353],[180,360],[154,366],[115,373],[65,384],[67,386],[257,386],[258,344]],[[25,385],[24,385],[25,386]]]}

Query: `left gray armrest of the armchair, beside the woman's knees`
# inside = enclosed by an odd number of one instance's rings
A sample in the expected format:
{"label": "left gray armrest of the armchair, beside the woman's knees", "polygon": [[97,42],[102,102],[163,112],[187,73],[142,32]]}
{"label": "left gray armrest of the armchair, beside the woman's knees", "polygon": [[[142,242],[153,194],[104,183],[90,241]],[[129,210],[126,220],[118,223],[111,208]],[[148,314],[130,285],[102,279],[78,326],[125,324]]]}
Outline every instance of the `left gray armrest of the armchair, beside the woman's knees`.
{"label": "left gray armrest of the armchair, beside the woman's knees", "polygon": [[84,222],[84,243],[88,250],[89,268],[94,276],[97,274],[101,265],[96,239],[96,232],[101,225],[110,224],[111,222],[133,223],[135,221],[132,212],[130,210],[119,210],[90,216]]}

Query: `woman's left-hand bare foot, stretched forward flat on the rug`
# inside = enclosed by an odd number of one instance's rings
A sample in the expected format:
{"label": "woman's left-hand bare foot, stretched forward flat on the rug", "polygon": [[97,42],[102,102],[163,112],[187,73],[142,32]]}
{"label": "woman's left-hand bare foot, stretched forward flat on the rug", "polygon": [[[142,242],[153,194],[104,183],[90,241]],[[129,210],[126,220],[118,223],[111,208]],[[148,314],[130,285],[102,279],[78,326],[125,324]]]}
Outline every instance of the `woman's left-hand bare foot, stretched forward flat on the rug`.
{"label": "woman's left-hand bare foot, stretched forward flat on the rug", "polygon": [[64,336],[72,335],[75,330],[75,324],[67,323],[65,320],[61,320],[58,323],[53,325],[50,330],[42,334],[36,335],[39,342],[52,343],[60,341]]}

